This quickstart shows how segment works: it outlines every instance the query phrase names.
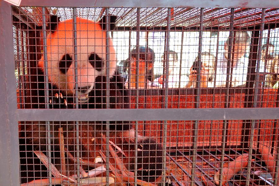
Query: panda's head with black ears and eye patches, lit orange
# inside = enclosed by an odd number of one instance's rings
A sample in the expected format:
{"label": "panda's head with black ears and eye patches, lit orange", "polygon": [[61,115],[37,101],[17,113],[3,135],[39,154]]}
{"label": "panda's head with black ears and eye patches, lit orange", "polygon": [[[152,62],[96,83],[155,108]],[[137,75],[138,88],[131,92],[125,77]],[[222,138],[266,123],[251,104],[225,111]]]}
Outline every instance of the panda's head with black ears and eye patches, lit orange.
{"label": "panda's head with black ears and eye patches, lit orange", "polygon": [[[77,17],[77,76],[78,100],[87,102],[88,93],[94,89],[95,79],[106,75],[106,32],[104,16],[100,22]],[[48,79],[67,95],[75,93],[73,19],[59,22],[57,16],[51,16],[47,37]],[[109,16],[110,29],[115,27],[116,16]],[[53,24],[55,23],[56,24]],[[44,58],[38,66],[44,70]],[[109,39],[109,75],[116,69],[116,53]]]}

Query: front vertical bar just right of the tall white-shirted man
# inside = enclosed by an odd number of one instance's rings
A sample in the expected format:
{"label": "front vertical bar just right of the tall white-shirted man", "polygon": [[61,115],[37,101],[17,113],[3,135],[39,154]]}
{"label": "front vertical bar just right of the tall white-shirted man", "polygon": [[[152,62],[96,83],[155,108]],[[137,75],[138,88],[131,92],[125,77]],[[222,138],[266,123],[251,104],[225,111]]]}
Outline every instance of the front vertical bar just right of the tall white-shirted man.
{"label": "front vertical bar just right of the tall white-shirted man", "polygon": [[[260,27],[260,36],[259,36],[259,48],[258,48],[258,60],[257,60],[257,70],[256,70],[256,79],[255,79],[255,91],[254,91],[254,100],[253,107],[257,107],[257,99],[258,99],[258,81],[259,81],[259,68],[261,63],[261,51],[262,51],[262,40],[263,40],[263,29],[264,29],[264,15],[265,8],[262,9],[262,17],[261,17],[261,27]],[[252,159],[252,151],[253,151],[253,141],[255,136],[255,120],[252,120],[251,133],[250,133],[250,144],[249,144],[249,157],[248,157],[248,169],[247,169],[247,180],[246,185],[249,185],[250,180],[250,172],[251,172],[251,159]]]}

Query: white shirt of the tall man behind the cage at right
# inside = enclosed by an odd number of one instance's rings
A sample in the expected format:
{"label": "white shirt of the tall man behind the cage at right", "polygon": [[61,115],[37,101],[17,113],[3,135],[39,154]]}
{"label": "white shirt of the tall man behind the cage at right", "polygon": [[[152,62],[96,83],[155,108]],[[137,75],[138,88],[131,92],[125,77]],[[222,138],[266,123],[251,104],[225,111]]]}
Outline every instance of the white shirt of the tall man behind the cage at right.
{"label": "white shirt of the tall man behind the cage at right", "polygon": [[[232,82],[238,82],[238,85],[243,85],[246,82],[247,69],[248,69],[248,58],[241,57],[239,60],[233,60],[236,63],[232,67]],[[219,53],[217,58],[217,68],[216,68],[216,83],[226,82],[227,80],[227,66],[228,60],[225,58],[224,53]],[[230,74],[231,72],[229,72]]]}

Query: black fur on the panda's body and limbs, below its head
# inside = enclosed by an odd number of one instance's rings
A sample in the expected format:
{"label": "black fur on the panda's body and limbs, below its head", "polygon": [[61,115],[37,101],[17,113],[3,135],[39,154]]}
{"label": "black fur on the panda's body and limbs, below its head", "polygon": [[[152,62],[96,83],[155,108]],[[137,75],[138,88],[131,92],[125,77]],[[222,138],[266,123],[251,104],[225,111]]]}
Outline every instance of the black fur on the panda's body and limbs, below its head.
{"label": "black fur on the panda's body and limbs, below its head", "polygon": [[[42,72],[40,72],[42,73]],[[116,74],[110,78],[109,82],[109,108],[130,108],[129,106],[129,95],[128,91],[124,86],[124,82],[122,77],[115,72]],[[41,74],[42,75],[42,74]],[[39,76],[38,87],[44,87],[43,83],[43,76]],[[93,108],[106,108],[105,102],[105,95],[106,95],[106,78],[105,76],[99,76],[95,80],[95,87],[94,91],[91,91],[89,94],[89,100],[86,104],[80,104],[79,108],[85,109],[93,109]],[[66,95],[64,90],[58,90],[57,87],[53,86],[49,83],[51,90],[49,91],[50,99],[52,100],[51,108],[74,108],[74,100],[73,95]],[[39,97],[40,104],[38,108],[45,108],[45,101],[44,101],[44,91],[39,90]],[[63,99],[56,98],[54,95],[55,93],[62,93],[64,95]],[[65,106],[64,98],[67,99],[68,106]],[[103,99],[100,99],[103,98]],[[37,107],[37,106],[36,106]],[[82,125],[84,123],[84,125]],[[83,130],[87,135],[95,135],[98,131],[105,130],[105,122],[82,122],[80,128],[85,127]],[[109,130],[111,131],[110,136],[117,136],[116,131],[129,131],[133,130],[134,126],[129,121],[115,121],[109,122]],[[75,133],[73,132],[74,129],[74,122],[51,122],[51,149],[54,150],[52,153],[52,162],[55,163],[55,166],[59,166],[60,164],[60,154],[59,154],[59,141],[57,139],[58,136],[58,128],[62,127],[64,131],[64,144],[67,144],[67,148],[69,151],[74,152],[75,150]],[[87,130],[87,127],[91,127]],[[93,127],[93,128],[92,128]],[[90,132],[93,131],[93,132]],[[113,132],[114,131],[114,132]],[[80,132],[83,133],[83,132]],[[94,134],[93,134],[94,133]],[[91,139],[91,138],[90,138]],[[118,139],[117,139],[118,140]],[[120,140],[120,139],[119,139]],[[120,140],[118,142],[122,144],[123,148],[128,149],[128,153],[133,151],[134,149],[134,142]],[[40,160],[36,157],[36,155],[32,152],[32,150],[40,150],[42,152],[46,152],[46,122],[25,122],[25,125],[21,125],[20,129],[20,164],[21,164],[21,183],[26,183],[34,179],[41,179],[42,177],[47,177],[46,167],[42,165]],[[80,146],[82,150],[82,157],[89,157],[90,155],[87,154],[88,148],[95,148],[93,147],[94,144],[90,144],[89,142],[83,142],[84,146]],[[142,151],[138,151],[138,168],[142,168],[142,170],[138,170],[139,178],[145,181],[154,181],[156,179],[155,175],[162,174],[162,146],[157,144],[156,140],[153,138],[143,138],[138,140],[138,148]],[[141,144],[141,146],[140,146]],[[92,147],[90,147],[92,146]],[[87,150],[86,150],[87,149]],[[91,149],[92,151],[92,149]],[[130,152],[131,153],[131,152]],[[132,152],[133,153],[133,152]],[[133,170],[134,166],[134,159],[132,158],[134,155],[130,154],[130,158],[128,163],[126,164],[127,168],[130,165],[130,169]],[[67,159],[67,158],[66,158]],[[124,160],[123,160],[124,162]],[[67,162],[66,162],[67,163]],[[71,162],[69,162],[71,163]],[[28,166],[27,166],[27,165]],[[36,166],[33,166],[36,164]],[[34,169],[35,168],[35,169]],[[85,167],[83,167],[86,169]],[[74,168],[72,167],[74,170]],[[72,172],[73,173],[73,172]]]}

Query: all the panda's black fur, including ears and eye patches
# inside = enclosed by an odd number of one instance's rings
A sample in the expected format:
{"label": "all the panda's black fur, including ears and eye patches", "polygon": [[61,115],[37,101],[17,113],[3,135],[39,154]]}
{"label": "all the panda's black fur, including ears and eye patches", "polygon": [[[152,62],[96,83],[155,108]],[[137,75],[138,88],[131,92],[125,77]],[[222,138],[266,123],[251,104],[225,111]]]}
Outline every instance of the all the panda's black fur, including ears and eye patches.
{"label": "all the panda's black fur, including ears and eye patches", "polygon": [[[100,24],[103,29],[105,29],[105,19],[104,16]],[[49,28],[51,30],[57,28],[57,23],[59,22],[59,18],[57,16],[51,16],[51,23],[49,24]],[[113,30],[115,27],[116,16],[110,15],[110,29]],[[91,58],[90,58],[91,57]],[[69,56],[65,56],[65,60],[59,64],[60,70],[64,68],[64,71],[67,71],[67,61]],[[98,56],[89,55],[89,61],[94,60],[102,60],[99,59]],[[103,63],[101,63],[103,64]],[[95,67],[95,64],[91,64]],[[95,67],[101,68],[101,67]],[[31,80],[30,83],[30,100],[29,103],[25,104],[25,108],[46,108],[45,102],[45,83],[44,83],[44,73],[42,70],[37,71],[36,77]],[[73,95],[67,95],[66,90],[60,90],[55,85],[49,83],[49,99],[52,100],[50,104],[50,108],[74,108],[74,99]],[[95,87],[88,95],[88,103],[79,104],[79,108],[83,109],[94,109],[94,108],[106,108],[106,77],[98,76],[95,79]],[[56,98],[55,94],[62,93],[62,98]],[[129,103],[129,95],[128,91],[124,86],[124,81],[122,77],[118,74],[117,70],[112,78],[109,80],[109,108],[130,108]],[[67,100],[68,105],[64,104],[64,99]],[[105,130],[105,122],[80,122],[80,149],[81,149],[81,157],[93,158],[96,154],[93,154],[94,149],[97,149],[94,143],[87,141],[88,139],[95,138],[97,141],[100,137],[101,131]],[[55,167],[59,170],[59,165],[61,164],[60,160],[60,152],[59,152],[59,140],[58,129],[60,127],[63,128],[64,139],[65,139],[65,147],[72,152],[75,152],[75,144],[76,144],[76,136],[74,130],[74,121],[70,122],[50,122],[51,125],[51,151],[52,151],[52,162],[55,164]],[[134,142],[132,139],[125,140],[121,137],[123,131],[131,131],[134,130],[134,126],[129,121],[110,121],[109,122],[109,131],[110,136],[116,140],[118,144],[122,145],[123,150],[126,150],[128,153],[131,153],[129,157],[123,157],[123,162],[127,165],[128,168],[130,165],[130,169],[133,170],[134,165]],[[85,135],[85,136],[84,136]],[[21,183],[26,183],[32,181],[34,179],[42,179],[47,178],[47,168],[42,164],[42,162],[36,157],[33,153],[33,150],[40,150],[46,154],[47,149],[47,141],[46,141],[46,122],[24,122],[20,124],[20,176]],[[116,138],[115,138],[116,136]],[[117,138],[118,137],[118,138]],[[118,140],[118,141],[117,141]],[[116,143],[116,144],[117,144]],[[97,144],[97,143],[96,143]],[[100,143],[98,143],[100,144]],[[155,181],[157,176],[162,174],[162,146],[158,144],[153,138],[139,138],[138,140],[138,148],[137,153],[138,156],[138,168],[142,168],[142,170],[138,170],[138,175],[142,176],[142,179],[145,181]],[[141,145],[141,146],[140,146]],[[100,156],[100,154],[97,154]],[[125,161],[128,160],[128,161]],[[66,168],[69,174],[74,174],[73,170],[75,168],[72,162],[68,161],[66,157]],[[83,167],[85,170],[88,170],[88,167]]]}

